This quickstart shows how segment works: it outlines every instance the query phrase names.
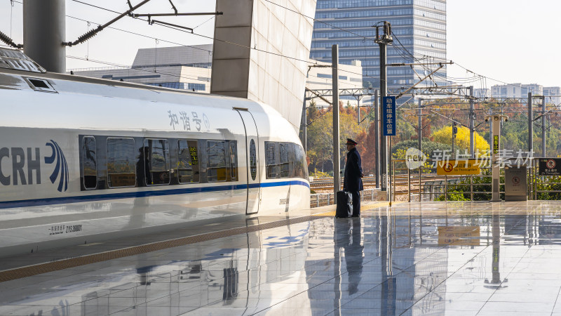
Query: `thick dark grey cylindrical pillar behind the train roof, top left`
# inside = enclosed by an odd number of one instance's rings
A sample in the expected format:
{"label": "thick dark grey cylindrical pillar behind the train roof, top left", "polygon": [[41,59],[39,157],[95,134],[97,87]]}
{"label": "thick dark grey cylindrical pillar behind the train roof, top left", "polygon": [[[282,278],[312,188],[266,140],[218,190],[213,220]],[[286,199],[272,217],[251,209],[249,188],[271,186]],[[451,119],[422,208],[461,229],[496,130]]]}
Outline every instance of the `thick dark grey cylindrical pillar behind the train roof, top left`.
{"label": "thick dark grey cylindrical pillar behind the train roof, top left", "polygon": [[66,72],[65,0],[23,0],[23,51],[48,72]]}

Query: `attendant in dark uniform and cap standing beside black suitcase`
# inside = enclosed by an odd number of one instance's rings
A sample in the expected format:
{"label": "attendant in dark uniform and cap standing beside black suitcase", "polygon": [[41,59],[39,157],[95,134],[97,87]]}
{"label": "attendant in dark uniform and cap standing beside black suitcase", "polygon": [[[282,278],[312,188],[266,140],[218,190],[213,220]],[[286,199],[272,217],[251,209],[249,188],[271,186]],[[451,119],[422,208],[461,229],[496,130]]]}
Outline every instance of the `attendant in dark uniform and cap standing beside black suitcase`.
{"label": "attendant in dark uniform and cap standing beside black suitcase", "polygon": [[[356,145],[356,141],[347,138],[347,145]],[[363,188],[363,167],[360,162],[360,154],[356,147],[349,150],[346,154],[345,178],[343,190],[351,192],[353,195],[353,217],[360,216],[360,191]]]}

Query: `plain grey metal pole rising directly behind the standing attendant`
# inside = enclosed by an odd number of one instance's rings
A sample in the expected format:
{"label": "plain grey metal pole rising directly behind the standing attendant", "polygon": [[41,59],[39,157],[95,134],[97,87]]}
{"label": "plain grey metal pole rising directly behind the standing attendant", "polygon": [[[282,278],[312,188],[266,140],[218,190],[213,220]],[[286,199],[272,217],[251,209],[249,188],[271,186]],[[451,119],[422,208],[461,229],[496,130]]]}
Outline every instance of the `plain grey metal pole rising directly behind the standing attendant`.
{"label": "plain grey metal pole rising directly behind the standing attendant", "polygon": [[333,200],[337,204],[337,192],[341,190],[339,170],[339,45],[331,46],[333,83]]}

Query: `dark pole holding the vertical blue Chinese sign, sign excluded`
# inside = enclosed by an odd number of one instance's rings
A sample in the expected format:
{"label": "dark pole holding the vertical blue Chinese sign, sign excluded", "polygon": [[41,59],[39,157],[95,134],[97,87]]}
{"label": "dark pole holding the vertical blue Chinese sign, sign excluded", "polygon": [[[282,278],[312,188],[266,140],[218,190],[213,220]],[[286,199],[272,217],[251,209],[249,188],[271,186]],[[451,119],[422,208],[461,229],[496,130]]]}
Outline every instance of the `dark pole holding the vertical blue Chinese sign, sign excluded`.
{"label": "dark pole holding the vertical blue Chinese sign, sign excluded", "polygon": [[[374,26],[376,27],[376,39],[374,40],[374,42],[376,42],[379,47],[380,47],[380,99],[384,100],[384,97],[386,96],[387,93],[387,88],[388,88],[388,73],[386,72],[387,69],[387,57],[386,57],[386,53],[387,53],[387,46],[388,44],[392,44],[393,43],[393,39],[391,38],[391,24],[388,23],[387,21],[384,21],[384,35],[382,35],[381,37],[379,36],[379,26]],[[389,162],[388,162],[388,154],[389,154],[389,150],[388,150],[388,141],[387,138],[389,136],[381,136],[381,141],[380,141],[380,160],[381,160],[381,191],[387,191],[390,192],[391,190],[388,190],[388,184],[391,183],[391,181],[388,181],[389,178]],[[391,192],[387,194],[387,199],[389,202],[391,199]]]}

